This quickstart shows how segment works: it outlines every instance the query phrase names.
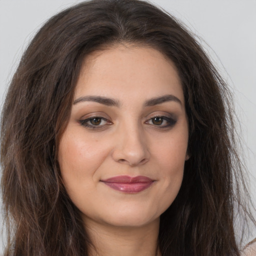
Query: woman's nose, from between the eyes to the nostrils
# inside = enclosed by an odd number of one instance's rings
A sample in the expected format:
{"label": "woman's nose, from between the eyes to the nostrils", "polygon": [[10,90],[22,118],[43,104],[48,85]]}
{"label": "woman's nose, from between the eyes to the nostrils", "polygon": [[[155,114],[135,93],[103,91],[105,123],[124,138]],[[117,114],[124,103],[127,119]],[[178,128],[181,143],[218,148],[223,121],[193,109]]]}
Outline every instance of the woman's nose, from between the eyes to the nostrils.
{"label": "woman's nose, from between the eyes to the nostrils", "polygon": [[146,143],[146,137],[142,128],[120,127],[115,133],[115,147],[112,157],[119,163],[137,166],[149,160],[150,153]]}

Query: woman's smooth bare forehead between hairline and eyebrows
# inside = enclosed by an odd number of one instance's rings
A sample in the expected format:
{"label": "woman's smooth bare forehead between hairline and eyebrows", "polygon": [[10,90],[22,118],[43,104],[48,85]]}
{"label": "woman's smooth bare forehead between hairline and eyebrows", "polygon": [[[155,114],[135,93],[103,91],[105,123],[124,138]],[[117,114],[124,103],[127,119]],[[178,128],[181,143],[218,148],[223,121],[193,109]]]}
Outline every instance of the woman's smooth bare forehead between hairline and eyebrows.
{"label": "woman's smooth bare forehead between hairline and eyebrows", "polygon": [[87,94],[126,98],[174,94],[184,100],[174,64],[160,51],[144,46],[116,45],[86,56],[75,98]]}

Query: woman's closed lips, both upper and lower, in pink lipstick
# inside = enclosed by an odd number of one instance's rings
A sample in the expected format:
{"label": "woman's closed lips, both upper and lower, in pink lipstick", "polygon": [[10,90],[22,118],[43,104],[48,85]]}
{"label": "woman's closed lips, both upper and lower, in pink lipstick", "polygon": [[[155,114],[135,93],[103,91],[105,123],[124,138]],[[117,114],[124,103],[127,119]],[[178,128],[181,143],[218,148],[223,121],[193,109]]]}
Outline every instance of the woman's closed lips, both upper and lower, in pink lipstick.
{"label": "woman's closed lips, both upper and lower, in pink lipstick", "polygon": [[130,177],[126,175],[114,176],[101,181],[111,188],[125,193],[138,193],[154,182],[146,176]]}

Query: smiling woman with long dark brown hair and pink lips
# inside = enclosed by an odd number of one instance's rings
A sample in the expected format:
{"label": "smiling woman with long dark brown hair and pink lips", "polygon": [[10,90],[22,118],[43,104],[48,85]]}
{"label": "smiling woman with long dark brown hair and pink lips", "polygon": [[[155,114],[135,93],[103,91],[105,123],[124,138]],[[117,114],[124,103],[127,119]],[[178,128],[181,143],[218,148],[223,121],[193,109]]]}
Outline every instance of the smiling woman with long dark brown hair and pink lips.
{"label": "smiling woman with long dark brown hair and pink lips", "polygon": [[195,39],[147,2],[53,16],[3,107],[5,255],[239,255],[227,95]]}

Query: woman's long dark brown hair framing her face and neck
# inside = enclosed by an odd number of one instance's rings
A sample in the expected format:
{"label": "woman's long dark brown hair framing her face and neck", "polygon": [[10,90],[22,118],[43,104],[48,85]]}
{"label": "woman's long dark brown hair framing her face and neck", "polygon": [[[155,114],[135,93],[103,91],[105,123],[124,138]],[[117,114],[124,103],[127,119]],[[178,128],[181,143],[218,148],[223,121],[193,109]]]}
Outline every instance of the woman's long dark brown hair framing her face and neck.
{"label": "woman's long dark brown hair framing her face and neck", "polygon": [[4,255],[87,255],[89,238],[61,181],[58,141],[84,57],[122,42],[158,49],[183,86],[190,158],[177,197],[160,216],[161,255],[239,255],[234,205],[246,205],[227,86],[182,24],[139,0],[72,6],[50,18],[24,52],[1,119]]}

